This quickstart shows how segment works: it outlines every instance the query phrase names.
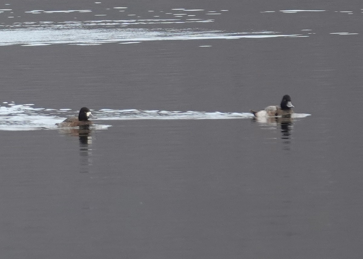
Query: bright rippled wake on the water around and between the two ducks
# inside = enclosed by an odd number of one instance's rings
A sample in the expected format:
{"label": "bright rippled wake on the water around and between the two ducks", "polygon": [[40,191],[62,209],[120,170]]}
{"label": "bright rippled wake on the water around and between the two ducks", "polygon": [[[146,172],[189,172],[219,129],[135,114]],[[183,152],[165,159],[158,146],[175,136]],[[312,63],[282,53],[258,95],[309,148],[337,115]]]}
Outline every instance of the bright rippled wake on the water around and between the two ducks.
{"label": "bright rippled wake on the water around and between the two ducks", "polygon": [[[34,108],[34,104],[16,104],[3,102],[0,106],[0,130],[29,131],[57,129],[56,123],[68,116],[78,114],[68,108]],[[203,111],[165,111],[165,110],[112,110],[92,111],[97,116],[93,119],[94,129],[106,129],[111,125],[97,123],[102,120],[220,120],[254,118],[250,112],[203,112]],[[291,119],[304,118],[310,114],[294,114]]]}

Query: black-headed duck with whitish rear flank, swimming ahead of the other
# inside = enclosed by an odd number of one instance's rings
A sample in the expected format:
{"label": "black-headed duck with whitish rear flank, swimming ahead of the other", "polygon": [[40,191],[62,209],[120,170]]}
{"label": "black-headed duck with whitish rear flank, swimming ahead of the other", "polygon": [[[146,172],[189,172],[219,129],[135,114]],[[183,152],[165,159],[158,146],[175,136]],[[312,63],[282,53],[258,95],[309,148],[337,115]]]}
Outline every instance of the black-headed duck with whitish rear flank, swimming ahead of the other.
{"label": "black-headed duck with whitish rear flank, swimming ahead of the other", "polygon": [[254,111],[251,110],[255,117],[275,117],[275,116],[283,116],[289,117],[291,114],[294,113],[293,111],[293,104],[291,103],[290,95],[286,94],[282,97],[280,106],[278,105],[271,105],[267,106],[264,110],[261,111]]}

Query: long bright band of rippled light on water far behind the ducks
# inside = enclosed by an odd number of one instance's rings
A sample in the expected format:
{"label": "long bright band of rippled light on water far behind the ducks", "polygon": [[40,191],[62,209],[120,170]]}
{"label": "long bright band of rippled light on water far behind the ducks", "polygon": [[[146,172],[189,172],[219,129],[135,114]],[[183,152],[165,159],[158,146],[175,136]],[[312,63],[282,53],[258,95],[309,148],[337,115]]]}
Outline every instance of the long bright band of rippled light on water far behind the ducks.
{"label": "long bright band of rippled light on water far behind the ducks", "polygon": [[[130,21],[129,21],[130,22]],[[136,20],[134,20],[136,22]],[[138,20],[149,22],[147,20]],[[189,22],[189,21],[186,21]],[[192,20],[190,22],[204,22]],[[92,23],[92,21],[90,21]],[[77,26],[77,23],[72,23]],[[109,24],[109,23],[108,23]],[[109,24],[110,25],[110,24]],[[159,40],[209,40],[241,38],[296,37],[303,34],[282,34],[280,32],[224,32],[220,30],[197,29],[11,29],[0,30],[0,45],[47,45],[77,44],[94,45],[103,43],[143,42]]]}

